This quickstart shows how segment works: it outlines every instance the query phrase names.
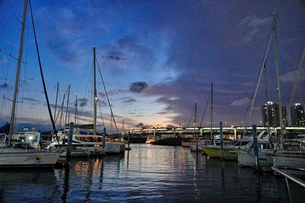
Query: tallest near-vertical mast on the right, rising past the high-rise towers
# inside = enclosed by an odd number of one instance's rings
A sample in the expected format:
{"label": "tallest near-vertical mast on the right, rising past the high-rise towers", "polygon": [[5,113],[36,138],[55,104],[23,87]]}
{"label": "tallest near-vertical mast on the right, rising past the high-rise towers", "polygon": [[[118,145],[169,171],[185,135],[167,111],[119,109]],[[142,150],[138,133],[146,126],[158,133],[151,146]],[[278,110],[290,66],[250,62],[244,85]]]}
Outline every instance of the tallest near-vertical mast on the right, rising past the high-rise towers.
{"label": "tallest near-vertical mast on the right, rising past the high-rise towers", "polygon": [[276,67],[277,67],[277,90],[278,90],[278,113],[279,113],[279,122],[281,127],[281,142],[283,142],[283,118],[282,118],[282,99],[281,99],[281,87],[280,87],[280,70],[279,70],[279,60],[278,60],[278,33],[277,33],[277,15],[276,12],[273,14],[273,19],[275,21],[275,51],[276,51]]}

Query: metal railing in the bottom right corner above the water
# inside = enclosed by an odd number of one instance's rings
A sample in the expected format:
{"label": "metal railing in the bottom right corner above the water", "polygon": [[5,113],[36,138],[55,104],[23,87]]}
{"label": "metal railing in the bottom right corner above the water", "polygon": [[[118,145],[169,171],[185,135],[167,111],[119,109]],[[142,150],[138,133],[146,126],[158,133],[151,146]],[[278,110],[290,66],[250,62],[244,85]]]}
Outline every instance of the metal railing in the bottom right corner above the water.
{"label": "metal railing in the bottom right corner above the water", "polygon": [[[290,189],[289,189],[289,185],[288,185],[288,179],[295,182],[296,184],[302,186],[303,188],[305,188],[305,181],[302,181],[302,180],[296,178],[295,176],[292,176],[289,173],[286,173],[285,171],[282,170],[282,167],[280,169],[275,166],[271,166],[271,168],[273,171],[275,171],[276,173],[279,173],[280,175],[283,176],[288,202],[291,203],[292,200],[291,200],[291,193],[290,193]],[[295,171],[305,171],[304,168],[283,167],[283,169],[295,170]]]}

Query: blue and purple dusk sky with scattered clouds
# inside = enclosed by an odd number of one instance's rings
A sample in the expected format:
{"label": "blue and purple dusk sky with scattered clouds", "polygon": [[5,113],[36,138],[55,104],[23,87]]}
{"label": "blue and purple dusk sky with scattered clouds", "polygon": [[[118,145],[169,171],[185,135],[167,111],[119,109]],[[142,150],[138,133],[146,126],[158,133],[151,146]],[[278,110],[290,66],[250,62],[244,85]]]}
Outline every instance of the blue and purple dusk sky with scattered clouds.
{"label": "blue and purple dusk sky with scattered clouds", "polygon": [[[195,102],[197,123],[220,121],[240,126],[260,71],[273,16],[278,25],[278,53],[283,105],[305,38],[304,1],[32,1],[40,57],[54,114],[56,85],[60,100],[71,84],[69,109],[74,121],[92,123],[93,47],[115,121],[129,126],[188,126]],[[0,1],[0,124],[10,121],[23,1]],[[24,53],[16,123],[51,128],[41,82],[31,13],[26,18]],[[275,38],[267,55],[269,101],[277,102]],[[305,102],[304,64],[293,104]],[[97,70],[98,131],[102,116],[109,130],[110,109]],[[251,124],[260,124],[265,104],[263,79]],[[209,99],[209,100],[208,100]],[[58,99],[59,100],[59,99]],[[208,104],[207,104],[208,103]],[[57,107],[57,112],[59,109]],[[66,104],[64,115],[66,113]],[[194,120],[194,118],[192,118]],[[191,124],[193,121],[191,122]],[[290,114],[288,124],[291,125]],[[63,124],[62,124],[63,125]],[[56,126],[58,128],[59,121]],[[17,127],[18,128],[18,127]],[[18,128],[18,129],[19,129]]]}

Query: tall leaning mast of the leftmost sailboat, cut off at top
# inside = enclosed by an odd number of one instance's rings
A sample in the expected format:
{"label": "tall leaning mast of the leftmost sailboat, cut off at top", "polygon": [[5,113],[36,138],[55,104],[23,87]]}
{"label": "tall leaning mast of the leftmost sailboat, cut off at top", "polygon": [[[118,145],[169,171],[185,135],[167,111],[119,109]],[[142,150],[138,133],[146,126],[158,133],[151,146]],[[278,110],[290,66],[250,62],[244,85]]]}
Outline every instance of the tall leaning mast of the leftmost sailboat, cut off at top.
{"label": "tall leaning mast of the leftmost sailboat, cut off at top", "polygon": [[10,124],[8,145],[11,145],[12,134],[13,134],[13,126],[14,126],[14,120],[15,120],[16,99],[17,99],[17,92],[18,92],[19,73],[20,73],[22,48],[23,48],[26,6],[27,6],[27,0],[24,0],[23,16],[22,16],[22,23],[21,23],[20,44],[19,44],[19,54],[18,54],[18,62],[17,62],[17,71],[16,71],[16,80],[15,80],[15,89],[14,89],[14,98],[13,98],[13,106],[12,106],[11,124]]}

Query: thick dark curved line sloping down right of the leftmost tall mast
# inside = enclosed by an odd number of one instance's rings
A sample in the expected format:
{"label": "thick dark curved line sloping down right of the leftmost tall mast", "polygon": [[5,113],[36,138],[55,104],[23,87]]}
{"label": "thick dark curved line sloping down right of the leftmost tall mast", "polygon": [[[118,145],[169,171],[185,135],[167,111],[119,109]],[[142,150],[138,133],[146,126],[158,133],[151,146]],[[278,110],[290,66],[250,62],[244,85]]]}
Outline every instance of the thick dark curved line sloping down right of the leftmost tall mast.
{"label": "thick dark curved line sloping down right of the leftmost tall mast", "polygon": [[[51,112],[51,108],[50,108],[50,103],[49,103],[49,98],[48,98],[48,94],[47,94],[47,89],[46,89],[46,85],[45,85],[45,81],[44,81],[44,77],[43,77],[43,72],[42,72],[42,66],[41,66],[40,55],[39,55],[39,50],[38,50],[38,44],[37,44],[37,38],[36,38],[36,31],[35,31],[35,25],[34,25],[34,18],[33,18],[31,0],[29,0],[28,2],[29,2],[29,8],[31,9],[34,38],[35,38],[36,50],[37,50],[37,55],[38,55],[39,67],[40,67],[40,75],[41,75],[41,79],[42,79],[42,83],[43,83],[43,89],[44,89],[45,97],[46,97],[46,100],[47,100],[48,111],[49,111],[52,127],[53,127],[54,132],[56,132],[56,127],[55,127],[55,124],[54,124],[54,120],[53,120],[53,116],[52,116],[52,112]],[[57,133],[56,133],[56,139],[57,139],[57,142],[59,144]]]}

